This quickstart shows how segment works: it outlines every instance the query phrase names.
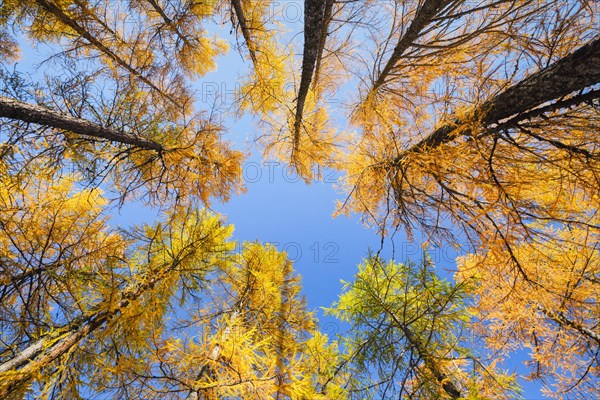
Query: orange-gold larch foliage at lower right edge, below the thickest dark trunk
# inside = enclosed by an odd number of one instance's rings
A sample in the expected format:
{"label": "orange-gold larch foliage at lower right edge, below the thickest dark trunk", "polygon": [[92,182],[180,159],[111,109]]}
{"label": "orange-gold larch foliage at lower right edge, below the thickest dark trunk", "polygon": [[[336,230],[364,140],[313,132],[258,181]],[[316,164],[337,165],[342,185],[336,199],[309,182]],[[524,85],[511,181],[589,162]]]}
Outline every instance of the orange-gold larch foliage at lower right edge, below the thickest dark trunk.
{"label": "orange-gold larch foliage at lower right edge, below the thickest dark trunk", "polygon": [[458,281],[477,282],[470,288],[478,298],[477,334],[499,356],[520,347],[530,350],[528,379],[541,380],[548,396],[599,394],[600,254],[598,215],[591,217],[590,226],[543,226],[547,239],[516,245],[523,272],[501,245],[458,262]]}

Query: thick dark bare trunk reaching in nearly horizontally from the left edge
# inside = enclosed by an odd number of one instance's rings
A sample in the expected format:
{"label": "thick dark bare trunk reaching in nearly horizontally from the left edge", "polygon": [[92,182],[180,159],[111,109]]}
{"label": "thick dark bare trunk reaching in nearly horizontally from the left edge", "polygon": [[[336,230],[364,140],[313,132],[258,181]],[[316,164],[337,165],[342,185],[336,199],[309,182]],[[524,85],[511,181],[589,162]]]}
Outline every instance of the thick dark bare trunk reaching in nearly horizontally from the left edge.
{"label": "thick dark bare trunk reaching in nearly horizontally from the left edge", "polygon": [[73,117],[46,107],[24,103],[4,96],[0,96],[0,117],[44,125],[81,136],[90,136],[128,144],[140,149],[154,150],[156,152],[164,150],[160,143],[152,140],[135,137],[122,131],[103,127],[83,118]]}

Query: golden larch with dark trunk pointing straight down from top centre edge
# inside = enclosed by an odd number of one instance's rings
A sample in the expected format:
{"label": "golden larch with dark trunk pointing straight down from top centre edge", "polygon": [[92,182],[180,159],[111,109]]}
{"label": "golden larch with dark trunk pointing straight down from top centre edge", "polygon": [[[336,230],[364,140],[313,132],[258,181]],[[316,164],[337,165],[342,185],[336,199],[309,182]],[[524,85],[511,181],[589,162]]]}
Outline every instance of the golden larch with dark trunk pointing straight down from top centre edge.
{"label": "golden larch with dark trunk pointing straight down from top centre edge", "polygon": [[[267,2],[260,3],[267,8]],[[272,3],[271,12],[279,4]],[[280,51],[286,57],[275,69],[271,67],[272,71],[281,68],[282,91],[265,103],[269,108],[254,108],[260,111],[259,138],[267,156],[288,163],[306,182],[318,179],[322,168],[335,167],[339,161],[342,140],[332,121],[331,105],[337,103],[332,97],[347,80],[349,71],[344,63],[356,46],[351,40],[353,30],[346,29],[346,25],[357,24],[357,15],[366,6],[307,0],[301,48],[293,38],[288,40],[285,32],[279,33],[289,41],[287,52],[293,54]],[[301,57],[293,57],[296,54]],[[243,88],[242,100],[245,94]]]}

